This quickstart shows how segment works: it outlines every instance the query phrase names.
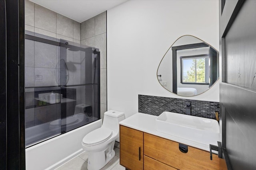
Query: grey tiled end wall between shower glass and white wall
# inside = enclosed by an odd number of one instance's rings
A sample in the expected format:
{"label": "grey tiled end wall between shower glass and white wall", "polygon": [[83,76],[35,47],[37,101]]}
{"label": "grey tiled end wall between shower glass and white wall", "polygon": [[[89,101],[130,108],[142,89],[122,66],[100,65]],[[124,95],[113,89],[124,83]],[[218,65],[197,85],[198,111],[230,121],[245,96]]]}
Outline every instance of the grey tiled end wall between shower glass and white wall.
{"label": "grey tiled end wall between shower glass and white wall", "polygon": [[81,23],[81,44],[100,49],[100,117],[107,111],[107,12]]}

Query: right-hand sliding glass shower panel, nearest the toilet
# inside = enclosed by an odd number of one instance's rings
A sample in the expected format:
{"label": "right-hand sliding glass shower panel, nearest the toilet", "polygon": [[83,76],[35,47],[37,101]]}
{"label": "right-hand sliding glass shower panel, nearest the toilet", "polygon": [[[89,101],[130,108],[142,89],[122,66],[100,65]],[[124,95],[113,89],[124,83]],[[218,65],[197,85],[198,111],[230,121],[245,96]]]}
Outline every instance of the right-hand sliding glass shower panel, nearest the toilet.
{"label": "right-hand sliding glass shower panel, nearest the toilet", "polygon": [[99,119],[100,63],[96,49],[60,42],[60,86],[63,95],[74,100],[61,104],[61,131],[65,133]]}

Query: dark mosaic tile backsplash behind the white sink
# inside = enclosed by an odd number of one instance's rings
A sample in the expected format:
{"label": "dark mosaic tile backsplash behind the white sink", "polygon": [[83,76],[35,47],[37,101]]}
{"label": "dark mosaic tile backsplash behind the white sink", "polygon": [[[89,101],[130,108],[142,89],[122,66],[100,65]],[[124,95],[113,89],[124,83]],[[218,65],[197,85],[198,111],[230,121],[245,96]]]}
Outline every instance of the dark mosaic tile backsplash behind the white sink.
{"label": "dark mosaic tile backsplash behind the white sink", "polygon": [[160,115],[163,111],[185,114],[186,109],[184,107],[187,102],[191,103],[190,115],[216,119],[215,111],[220,113],[219,102],[145,95],[138,95],[138,102],[140,113],[156,116]]}

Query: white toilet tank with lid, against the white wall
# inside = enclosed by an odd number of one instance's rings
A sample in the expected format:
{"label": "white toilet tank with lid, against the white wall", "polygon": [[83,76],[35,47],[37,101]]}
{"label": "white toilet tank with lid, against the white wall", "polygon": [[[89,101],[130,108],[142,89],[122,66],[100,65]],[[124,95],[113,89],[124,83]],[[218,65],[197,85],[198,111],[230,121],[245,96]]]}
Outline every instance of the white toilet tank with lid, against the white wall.
{"label": "white toilet tank with lid, against the white wall", "polygon": [[[118,132],[119,134],[119,122],[124,119],[125,117],[123,112],[115,111],[115,110],[106,111],[104,113],[104,121],[102,123],[102,127],[111,129],[113,133]],[[119,139],[119,135],[118,135],[118,139]]]}

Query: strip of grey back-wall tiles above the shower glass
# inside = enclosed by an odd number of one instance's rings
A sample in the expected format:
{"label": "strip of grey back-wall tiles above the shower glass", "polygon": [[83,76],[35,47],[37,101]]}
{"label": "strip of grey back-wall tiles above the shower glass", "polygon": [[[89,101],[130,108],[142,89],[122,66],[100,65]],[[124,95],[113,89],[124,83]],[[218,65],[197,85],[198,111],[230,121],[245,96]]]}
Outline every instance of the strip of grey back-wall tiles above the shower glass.
{"label": "strip of grey back-wall tiles above the shower glass", "polygon": [[25,0],[25,29],[80,43],[80,23]]}

